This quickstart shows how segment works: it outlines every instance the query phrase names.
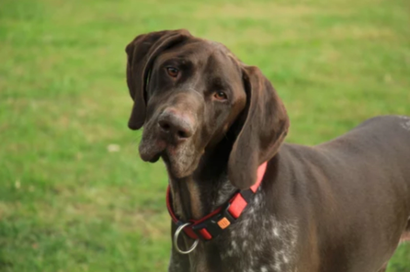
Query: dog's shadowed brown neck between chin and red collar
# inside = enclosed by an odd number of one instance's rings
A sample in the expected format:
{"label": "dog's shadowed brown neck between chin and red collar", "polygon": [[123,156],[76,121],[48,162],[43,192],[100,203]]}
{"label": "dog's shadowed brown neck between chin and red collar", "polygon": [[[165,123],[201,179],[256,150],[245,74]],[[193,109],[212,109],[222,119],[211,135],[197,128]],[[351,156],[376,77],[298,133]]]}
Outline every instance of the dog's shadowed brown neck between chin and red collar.
{"label": "dog's shadowed brown neck between chin and red collar", "polygon": [[228,180],[230,148],[206,151],[194,173],[175,178],[169,173],[172,204],[179,219],[200,219],[227,202],[237,190]]}

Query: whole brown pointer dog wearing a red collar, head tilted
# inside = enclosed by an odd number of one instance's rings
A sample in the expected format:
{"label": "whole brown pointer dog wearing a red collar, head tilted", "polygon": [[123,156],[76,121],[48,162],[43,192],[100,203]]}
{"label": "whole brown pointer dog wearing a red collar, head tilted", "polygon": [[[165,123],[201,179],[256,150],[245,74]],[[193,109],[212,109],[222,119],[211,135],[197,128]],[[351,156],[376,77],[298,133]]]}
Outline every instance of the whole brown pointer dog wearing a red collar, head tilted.
{"label": "whole brown pointer dog wearing a red collar, head tilted", "polygon": [[169,175],[169,271],[384,270],[410,232],[410,117],[283,143],[275,89],[223,45],[172,30],[126,52],[128,125],[144,126],[141,158]]}

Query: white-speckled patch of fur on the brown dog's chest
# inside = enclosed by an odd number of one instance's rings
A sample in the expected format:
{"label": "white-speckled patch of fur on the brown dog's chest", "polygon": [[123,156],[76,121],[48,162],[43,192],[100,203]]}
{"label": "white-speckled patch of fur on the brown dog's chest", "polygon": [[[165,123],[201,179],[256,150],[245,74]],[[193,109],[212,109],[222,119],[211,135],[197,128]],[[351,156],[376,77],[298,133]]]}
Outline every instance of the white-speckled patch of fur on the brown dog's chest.
{"label": "white-speckled patch of fur on the brown dog's chest", "polygon": [[251,208],[224,241],[220,261],[228,271],[295,271],[296,240],[294,224]]}

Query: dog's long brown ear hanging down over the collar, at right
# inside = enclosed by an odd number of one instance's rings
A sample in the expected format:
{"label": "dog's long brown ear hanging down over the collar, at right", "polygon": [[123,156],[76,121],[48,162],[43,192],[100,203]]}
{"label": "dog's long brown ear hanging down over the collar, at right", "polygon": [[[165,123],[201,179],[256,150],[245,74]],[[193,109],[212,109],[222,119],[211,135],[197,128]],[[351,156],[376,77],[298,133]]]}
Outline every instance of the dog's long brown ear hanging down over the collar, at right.
{"label": "dog's long brown ear hanging down over the collar, at right", "polygon": [[[239,189],[256,182],[258,166],[278,152],[289,129],[289,117],[271,82],[254,66],[242,66],[247,104],[242,128],[228,162],[228,176]],[[244,116],[243,116],[244,115]]]}

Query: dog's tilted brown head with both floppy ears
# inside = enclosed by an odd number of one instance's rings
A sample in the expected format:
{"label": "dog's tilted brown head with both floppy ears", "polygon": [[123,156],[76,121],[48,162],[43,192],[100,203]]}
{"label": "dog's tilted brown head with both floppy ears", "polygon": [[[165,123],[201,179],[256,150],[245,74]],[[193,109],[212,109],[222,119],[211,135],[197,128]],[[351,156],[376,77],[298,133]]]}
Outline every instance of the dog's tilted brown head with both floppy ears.
{"label": "dog's tilted brown head with both floppy ears", "polygon": [[251,186],[259,164],[276,154],[289,127],[281,100],[260,70],[186,30],[139,35],[126,52],[134,100],[128,126],[144,126],[141,158],[162,157],[170,175],[186,177],[204,151],[235,127],[229,178],[240,189]]}

